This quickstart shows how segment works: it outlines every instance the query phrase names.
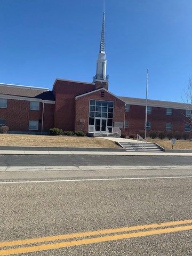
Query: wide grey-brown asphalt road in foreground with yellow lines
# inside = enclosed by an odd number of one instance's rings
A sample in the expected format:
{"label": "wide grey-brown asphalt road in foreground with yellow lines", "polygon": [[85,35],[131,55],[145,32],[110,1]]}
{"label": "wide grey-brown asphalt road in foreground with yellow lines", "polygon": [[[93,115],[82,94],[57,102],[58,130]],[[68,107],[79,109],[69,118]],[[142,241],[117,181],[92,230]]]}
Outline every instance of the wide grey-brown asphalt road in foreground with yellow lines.
{"label": "wide grey-brown asphalt road in foreground with yellow lines", "polygon": [[74,181],[71,171],[58,172],[58,181],[54,172],[39,183],[46,171],[4,172],[36,182],[0,183],[0,255],[192,255],[192,178],[181,178],[192,177],[191,169],[137,170],[141,179],[129,179],[128,169],[83,173]]}

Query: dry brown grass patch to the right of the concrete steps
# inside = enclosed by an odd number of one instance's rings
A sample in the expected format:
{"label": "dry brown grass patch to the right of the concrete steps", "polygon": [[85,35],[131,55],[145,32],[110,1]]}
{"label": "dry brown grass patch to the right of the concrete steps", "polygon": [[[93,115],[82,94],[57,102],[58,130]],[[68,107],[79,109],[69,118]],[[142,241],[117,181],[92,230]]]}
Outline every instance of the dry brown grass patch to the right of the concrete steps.
{"label": "dry brown grass patch to the right of the concrete steps", "polygon": [[[168,139],[147,139],[148,142],[157,143],[159,146],[162,146],[165,149],[172,148],[172,142]],[[190,140],[176,140],[175,144],[173,145],[173,149],[192,149],[192,141]]]}

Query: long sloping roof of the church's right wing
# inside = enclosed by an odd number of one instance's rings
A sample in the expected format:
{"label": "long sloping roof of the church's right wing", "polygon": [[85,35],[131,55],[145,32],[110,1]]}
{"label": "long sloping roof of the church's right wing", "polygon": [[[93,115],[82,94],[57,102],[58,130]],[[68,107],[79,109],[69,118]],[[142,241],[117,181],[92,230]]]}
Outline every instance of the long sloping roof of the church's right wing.
{"label": "long sloping roof of the church's right wing", "polygon": [[[119,97],[119,98],[130,105],[140,105],[140,106],[146,105],[145,99],[129,98],[129,97]],[[151,107],[175,108],[175,109],[191,109],[192,108],[192,106],[187,103],[162,101],[162,100],[147,100],[147,105]]]}

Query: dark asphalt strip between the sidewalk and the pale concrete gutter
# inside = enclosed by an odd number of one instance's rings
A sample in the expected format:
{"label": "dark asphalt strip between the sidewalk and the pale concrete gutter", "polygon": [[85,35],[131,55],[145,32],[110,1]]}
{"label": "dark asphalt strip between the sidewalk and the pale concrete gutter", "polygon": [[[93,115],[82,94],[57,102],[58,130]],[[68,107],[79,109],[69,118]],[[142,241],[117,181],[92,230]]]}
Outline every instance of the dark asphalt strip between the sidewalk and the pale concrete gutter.
{"label": "dark asphalt strip between the sidewalk and the pale concrete gutter", "polygon": [[1,155],[0,166],[192,165],[192,156]]}

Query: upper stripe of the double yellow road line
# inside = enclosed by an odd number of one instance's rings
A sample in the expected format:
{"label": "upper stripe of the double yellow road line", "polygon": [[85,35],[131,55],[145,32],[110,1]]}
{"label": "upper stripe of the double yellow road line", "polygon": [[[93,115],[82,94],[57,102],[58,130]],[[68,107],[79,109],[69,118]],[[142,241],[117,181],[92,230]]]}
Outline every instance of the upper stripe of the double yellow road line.
{"label": "upper stripe of the double yellow road line", "polygon": [[83,232],[83,233],[73,233],[73,234],[66,234],[66,235],[59,235],[59,236],[38,237],[38,238],[31,238],[31,239],[24,239],[24,240],[17,240],[17,241],[1,242],[0,247],[44,243],[44,242],[51,242],[51,241],[55,241],[55,240],[65,240],[65,239],[73,239],[73,238],[80,238],[80,237],[87,237],[87,236],[107,235],[107,234],[121,233],[121,232],[134,231],[134,230],[140,230],[140,229],[186,225],[189,223],[192,223],[192,219],[191,220],[172,221],[172,222],[163,222],[163,223],[153,223],[153,224],[149,224],[149,225],[140,225],[140,226],[132,226],[132,227],[87,231],[87,232]]}

